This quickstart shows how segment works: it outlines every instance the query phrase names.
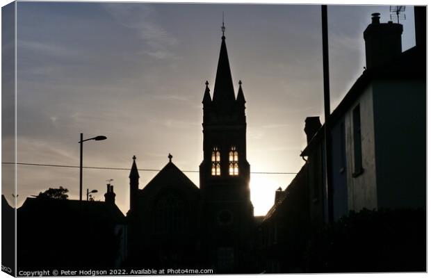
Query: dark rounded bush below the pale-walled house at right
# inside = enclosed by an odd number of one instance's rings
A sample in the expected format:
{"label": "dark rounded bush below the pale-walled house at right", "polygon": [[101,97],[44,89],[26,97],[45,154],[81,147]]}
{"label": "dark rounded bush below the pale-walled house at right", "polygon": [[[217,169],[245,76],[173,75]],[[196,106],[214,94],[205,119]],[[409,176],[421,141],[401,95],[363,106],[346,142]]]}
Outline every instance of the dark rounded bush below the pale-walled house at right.
{"label": "dark rounded bush below the pale-walled house at right", "polygon": [[423,209],[363,209],[314,233],[309,272],[425,272]]}

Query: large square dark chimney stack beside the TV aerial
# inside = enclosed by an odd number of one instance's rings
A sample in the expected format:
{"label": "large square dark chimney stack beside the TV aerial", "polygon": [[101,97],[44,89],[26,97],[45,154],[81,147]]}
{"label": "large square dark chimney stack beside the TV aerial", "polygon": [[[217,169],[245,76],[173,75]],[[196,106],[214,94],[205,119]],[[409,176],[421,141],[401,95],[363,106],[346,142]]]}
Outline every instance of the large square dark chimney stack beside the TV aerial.
{"label": "large square dark chimney stack beside the TV aerial", "polygon": [[402,25],[380,23],[380,13],[371,15],[371,24],[364,31],[366,68],[384,65],[401,54]]}

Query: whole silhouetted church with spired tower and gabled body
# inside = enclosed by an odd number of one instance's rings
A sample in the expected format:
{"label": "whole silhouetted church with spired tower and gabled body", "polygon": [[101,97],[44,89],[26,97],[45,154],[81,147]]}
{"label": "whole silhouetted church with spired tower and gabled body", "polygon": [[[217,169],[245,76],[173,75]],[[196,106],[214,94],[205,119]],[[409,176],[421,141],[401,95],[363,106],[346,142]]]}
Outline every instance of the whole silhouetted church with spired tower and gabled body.
{"label": "whole silhouetted church with spired tower and gabled body", "polygon": [[213,95],[203,104],[203,161],[197,187],[172,162],[140,188],[136,157],[130,179],[130,267],[210,268],[215,273],[254,272],[256,223],[250,201],[245,97],[235,93],[225,26]]}

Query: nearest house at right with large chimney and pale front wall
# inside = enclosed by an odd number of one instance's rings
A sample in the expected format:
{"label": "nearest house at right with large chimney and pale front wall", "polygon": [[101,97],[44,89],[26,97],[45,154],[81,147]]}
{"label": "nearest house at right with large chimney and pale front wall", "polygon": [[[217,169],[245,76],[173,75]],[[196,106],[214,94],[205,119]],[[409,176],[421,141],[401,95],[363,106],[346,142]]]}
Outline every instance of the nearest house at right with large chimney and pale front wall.
{"label": "nearest house at right with large chimney and pale front wall", "polygon": [[316,169],[309,173],[318,175],[317,181],[308,179],[316,196],[316,202],[314,197],[311,202],[318,204],[310,206],[316,206],[314,211],[326,221],[362,208],[425,208],[424,10],[415,7],[416,46],[404,52],[402,25],[380,23],[379,14],[373,14],[364,31],[366,70],[327,121],[332,146],[329,187],[325,124],[314,136],[307,133],[312,138],[301,156]]}

